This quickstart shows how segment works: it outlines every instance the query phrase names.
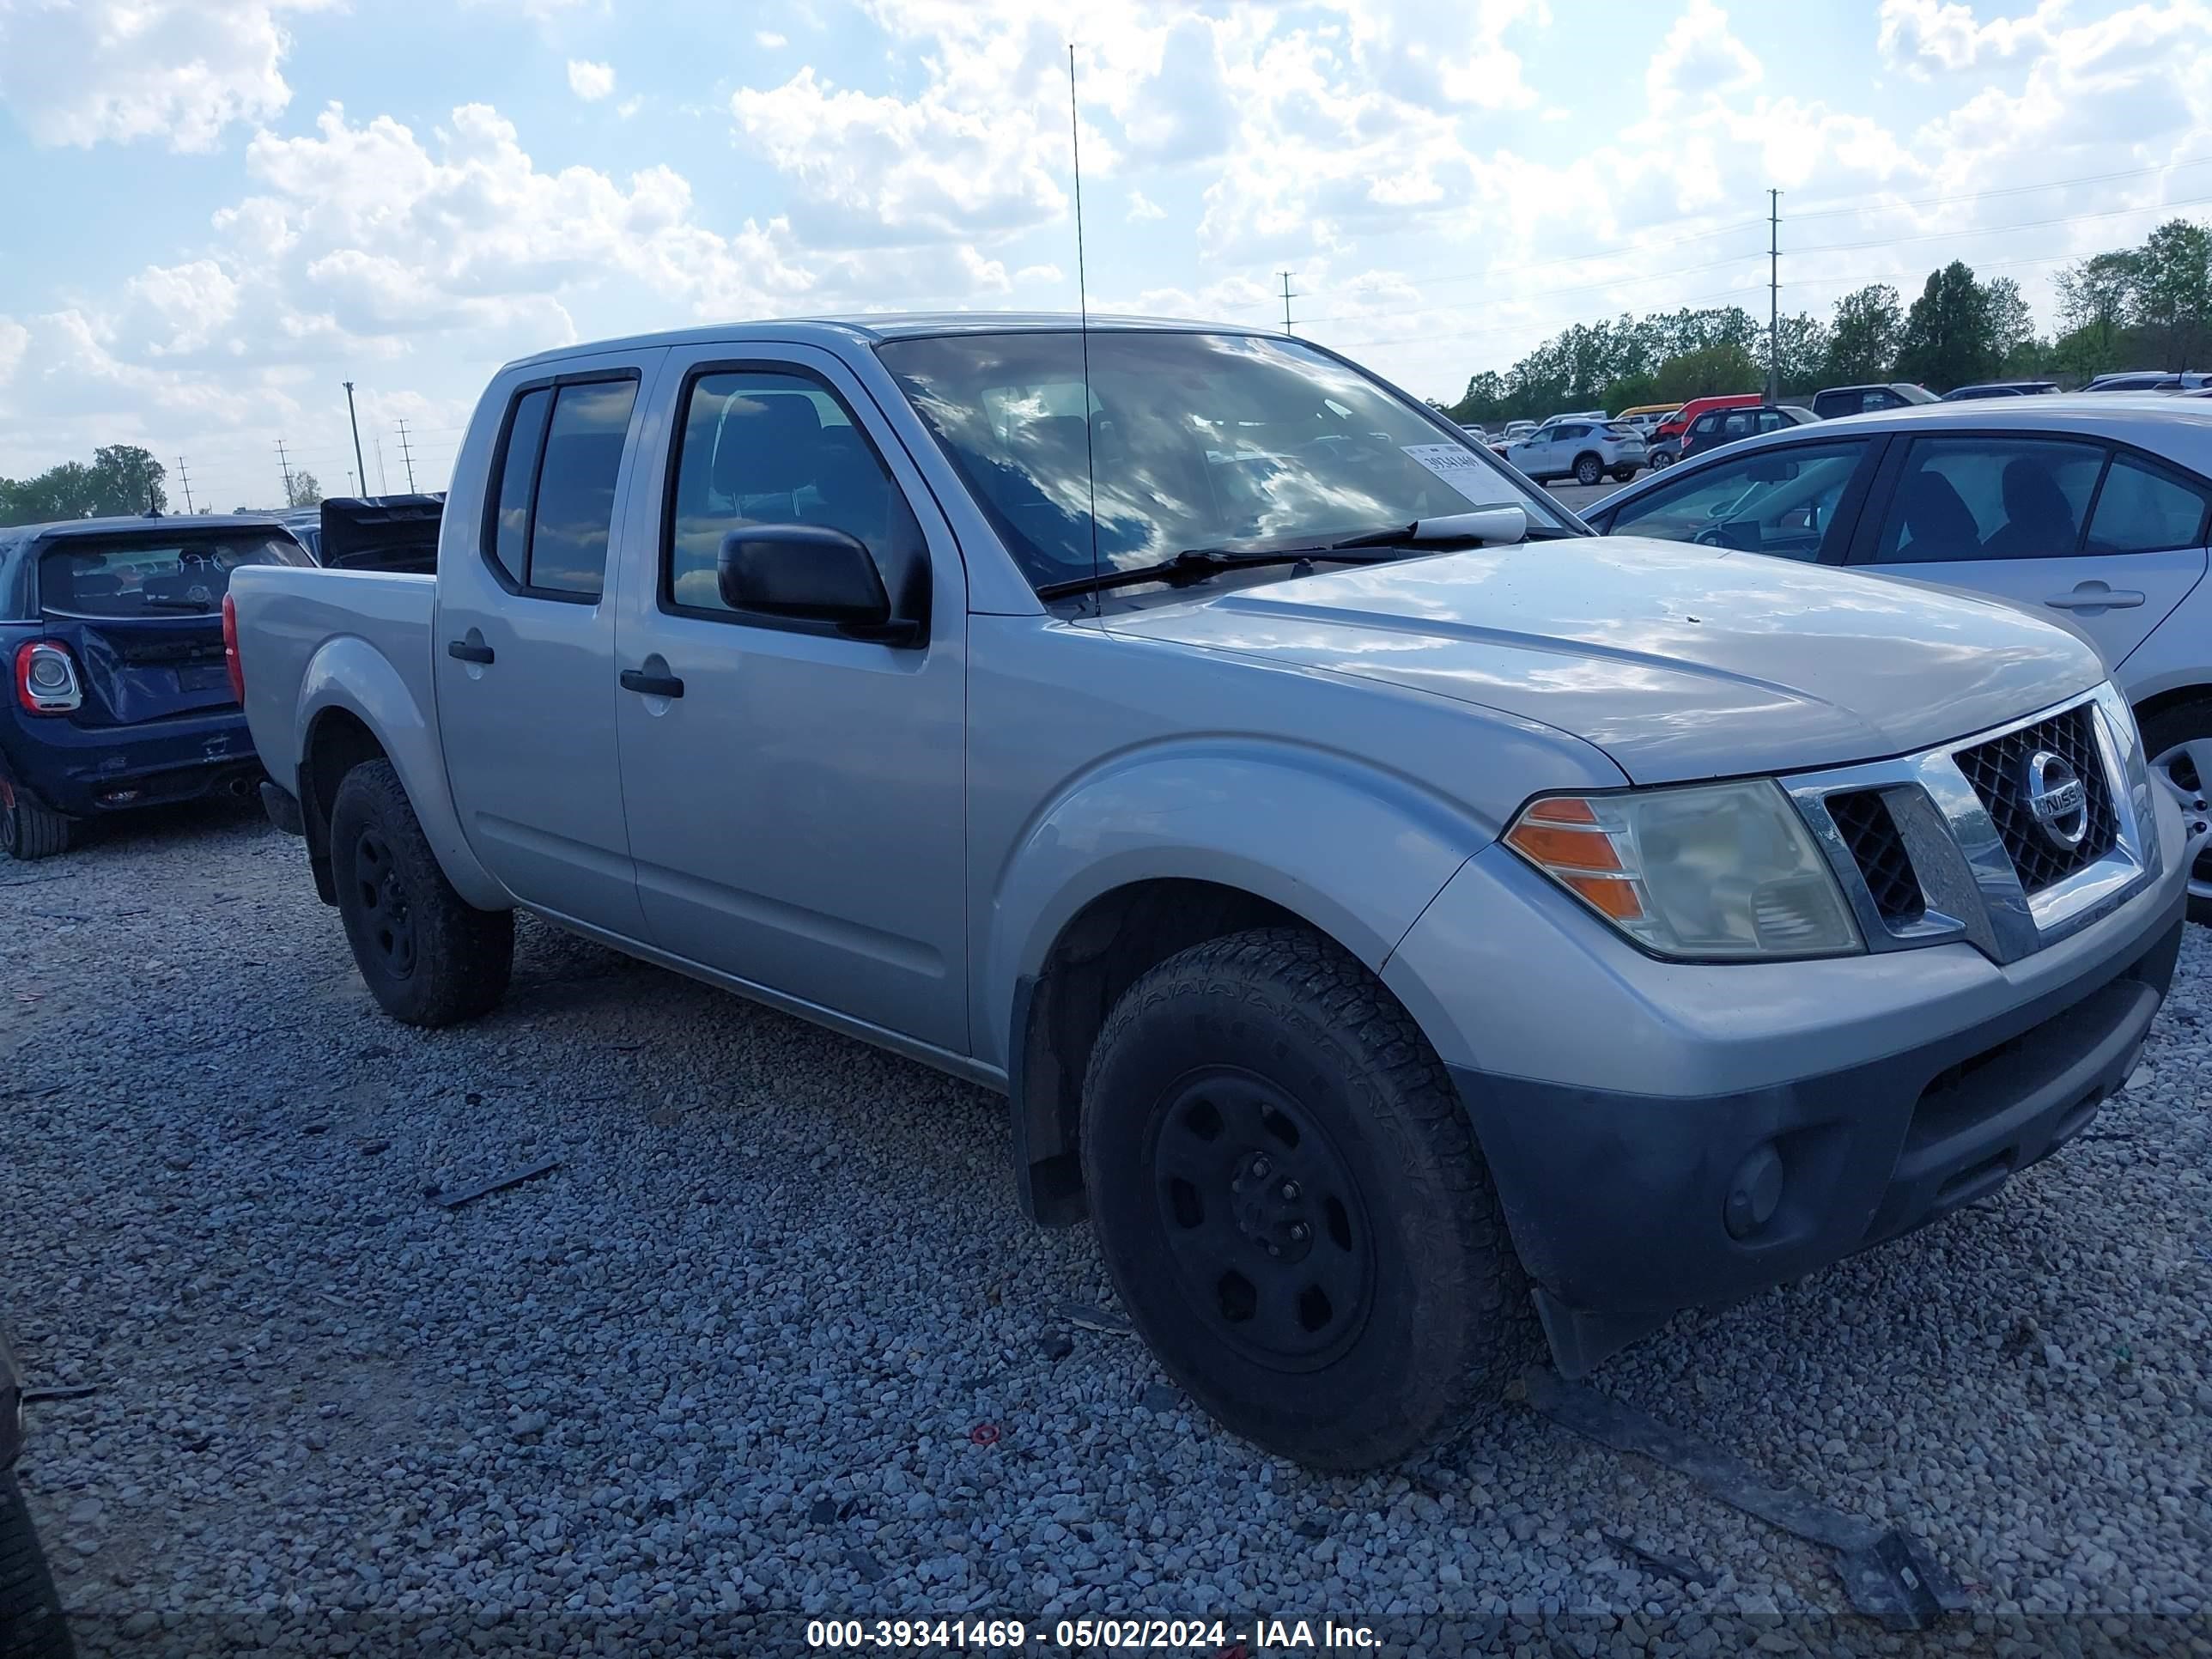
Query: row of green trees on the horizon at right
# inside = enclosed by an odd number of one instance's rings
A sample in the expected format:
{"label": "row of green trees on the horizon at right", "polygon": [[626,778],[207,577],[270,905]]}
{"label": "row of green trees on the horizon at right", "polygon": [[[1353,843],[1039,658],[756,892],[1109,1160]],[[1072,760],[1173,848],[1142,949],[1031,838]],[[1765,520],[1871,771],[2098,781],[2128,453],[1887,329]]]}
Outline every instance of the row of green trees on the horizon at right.
{"label": "row of green trees on the horizon at right", "polygon": [[[2079,385],[2108,369],[2185,369],[2212,358],[2212,228],[2172,219],[2137,248],[2059,272],[2046,338],[2011,276],[1980,279],[1953,259],[1907,307],[1889,283],[1836,301],[1829,319],[1783,316],[1783,400],[1829,385],[1916,380],[1949,392],[1975,380]],[[1542,420],[1557,409],[1688,403],[1767,383],[1767,325],[1741,305],[1577,323],[1511,369],[1484,369],[1449,407],[1453,420]]]}

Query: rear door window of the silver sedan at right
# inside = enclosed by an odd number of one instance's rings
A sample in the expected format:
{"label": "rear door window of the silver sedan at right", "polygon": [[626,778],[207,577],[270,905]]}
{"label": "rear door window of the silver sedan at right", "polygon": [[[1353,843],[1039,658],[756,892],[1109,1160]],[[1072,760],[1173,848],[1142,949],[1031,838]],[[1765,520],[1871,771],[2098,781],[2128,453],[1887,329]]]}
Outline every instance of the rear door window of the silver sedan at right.
{"label": "rear door window of the silver sedan at right", "polygon": [[1876,564],[2048,560],[2081,544],[2099,445],[2046,438],[1920,438],[1905,458]]}

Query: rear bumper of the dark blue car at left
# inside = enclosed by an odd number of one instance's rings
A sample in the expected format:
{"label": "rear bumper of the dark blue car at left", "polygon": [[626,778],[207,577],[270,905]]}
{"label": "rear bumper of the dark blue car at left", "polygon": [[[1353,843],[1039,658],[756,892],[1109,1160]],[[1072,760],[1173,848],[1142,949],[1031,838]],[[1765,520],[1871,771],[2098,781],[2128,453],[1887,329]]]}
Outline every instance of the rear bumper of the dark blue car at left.
{"label": "rear bumper of the dark blue car at left", "polygon": [[234,708],[139,726],[15,717],[7,765],[18,790],[73,818],[197,801],[217,790],[243,794],[261,776],[246,714]]}

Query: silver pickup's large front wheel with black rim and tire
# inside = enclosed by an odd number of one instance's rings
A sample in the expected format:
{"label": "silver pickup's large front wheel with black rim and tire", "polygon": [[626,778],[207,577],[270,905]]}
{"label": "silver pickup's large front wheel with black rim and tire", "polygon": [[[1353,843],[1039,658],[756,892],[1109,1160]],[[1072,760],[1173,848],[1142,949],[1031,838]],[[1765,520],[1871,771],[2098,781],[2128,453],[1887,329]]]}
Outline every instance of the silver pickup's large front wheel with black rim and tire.
{"label": "silver pickup's large front wheel with black rim and tire", "polygon": [[1232,933],[1137,980],[1091,1057],[1082,1161],[1130,1321],[1265,1451],[1391,1462],[1528,1352],[1526,1283],[1451,1077],[1312,933]]}

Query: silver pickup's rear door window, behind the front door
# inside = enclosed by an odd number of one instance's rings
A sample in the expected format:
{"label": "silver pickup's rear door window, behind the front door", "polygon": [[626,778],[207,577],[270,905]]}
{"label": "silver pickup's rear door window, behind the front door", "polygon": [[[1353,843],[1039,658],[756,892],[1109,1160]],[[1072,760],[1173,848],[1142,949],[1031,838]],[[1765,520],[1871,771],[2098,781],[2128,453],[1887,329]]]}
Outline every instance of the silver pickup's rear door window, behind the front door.
{"label": "silver pickup's rear door window, behind the front door", "polygon": [[580,604],[602,595],[635,407],[635,372],[515,394],[487,498],[484,562],[500,586]]}

